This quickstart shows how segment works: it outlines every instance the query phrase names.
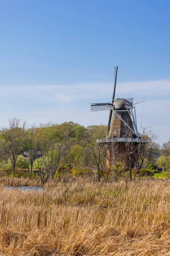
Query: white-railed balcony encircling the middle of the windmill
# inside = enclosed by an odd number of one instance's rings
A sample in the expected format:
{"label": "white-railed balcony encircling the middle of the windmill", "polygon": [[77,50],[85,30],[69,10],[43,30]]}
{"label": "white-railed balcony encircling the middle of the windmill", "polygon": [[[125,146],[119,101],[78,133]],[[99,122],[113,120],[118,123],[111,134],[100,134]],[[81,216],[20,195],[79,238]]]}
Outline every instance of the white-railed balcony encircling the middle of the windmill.
{"label": "white-railed balcony encircling the middle of the windmill", "polygon": [[99,139],[96,140],[96,143],[125,143],[125,142],[130,142],[130,143],[148,143],[150,140],[146,139],[133,139],[133,138],[108,138],[108,139]]}

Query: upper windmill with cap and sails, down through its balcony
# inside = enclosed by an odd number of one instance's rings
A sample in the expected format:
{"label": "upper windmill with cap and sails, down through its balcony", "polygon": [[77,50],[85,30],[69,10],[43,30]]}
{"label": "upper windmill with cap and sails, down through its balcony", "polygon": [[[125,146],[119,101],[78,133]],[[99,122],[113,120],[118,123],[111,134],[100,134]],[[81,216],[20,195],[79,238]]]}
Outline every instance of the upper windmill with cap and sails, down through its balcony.
{"label": "upper windmill with cap and sails, down through its balcony", "polygon": [[[131,143],[145,143],[141,139],[141,134],[138,131],[136,121],[136,110],[133,104],[133,98],[115,99],[116,81],[117,81],[118,67],[114,67],[114,88],[111,103],[91,103],[91,111],[109,111],[108,127],[106,139],[99,139],[96,142],[103,144],[116,143],[119,148],[119,154],[125,154],[126,144]],[[134,145],[136,146],[136,145]],[[118,159],[119,157],[117,157]]]}

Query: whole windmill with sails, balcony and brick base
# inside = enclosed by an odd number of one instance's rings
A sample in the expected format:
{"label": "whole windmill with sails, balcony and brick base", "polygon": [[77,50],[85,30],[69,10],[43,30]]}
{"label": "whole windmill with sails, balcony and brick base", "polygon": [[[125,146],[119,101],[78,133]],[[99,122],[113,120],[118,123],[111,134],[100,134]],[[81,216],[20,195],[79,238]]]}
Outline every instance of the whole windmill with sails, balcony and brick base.
{"label": "whole windmill with sails, balcony and brick base", "polygon": [[[106,165],[114,162],[124,162],[129,165],[129,148],[135,151],[139,143],[144,143],[138,132],[135,104],[133,98],[115,99],[118,67],[114,67],[114,89],[111,103],[91,103],[91,111],[110,111],[105,139],[97,140],[105,148]],[[138,102],[139,103],[139,102]],[[131,155],[135,159],[135,153]],[[135,160],[133,161],[133,165]]]}

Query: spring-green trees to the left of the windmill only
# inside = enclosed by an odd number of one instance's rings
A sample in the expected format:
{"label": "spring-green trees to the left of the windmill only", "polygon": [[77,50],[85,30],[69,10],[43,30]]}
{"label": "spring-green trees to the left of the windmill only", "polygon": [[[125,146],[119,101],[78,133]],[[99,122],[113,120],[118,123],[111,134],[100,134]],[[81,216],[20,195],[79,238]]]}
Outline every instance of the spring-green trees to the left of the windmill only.
{"label": "spring-green trees to the left of the windmill only", "polygon": [[[78,123],[64,122],[28,127],[26,122],[13,118],[0,132],[0,168],[11,170],[15,177],[16,167],[29,167],[31,179],[36,166],[42,172],[43,182],[49,177],[54,179],[56,170],[64,169],[68,163],[77,168],[91,168],[95,162],[90,147],[105,134],[105,125],[85,128]],[[41,158],[37,161],[39,154]]]}

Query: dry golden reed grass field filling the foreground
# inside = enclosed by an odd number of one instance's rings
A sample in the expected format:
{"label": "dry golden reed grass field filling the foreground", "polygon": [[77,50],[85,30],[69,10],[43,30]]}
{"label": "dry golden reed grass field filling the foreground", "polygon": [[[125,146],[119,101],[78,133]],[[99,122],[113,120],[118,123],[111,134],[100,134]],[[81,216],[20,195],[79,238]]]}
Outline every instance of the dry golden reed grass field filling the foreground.
{"label": "dry golden reed grass field filling the foreground", "polygon": [[168,256],[170,181],[0,187],[0,256]]}

